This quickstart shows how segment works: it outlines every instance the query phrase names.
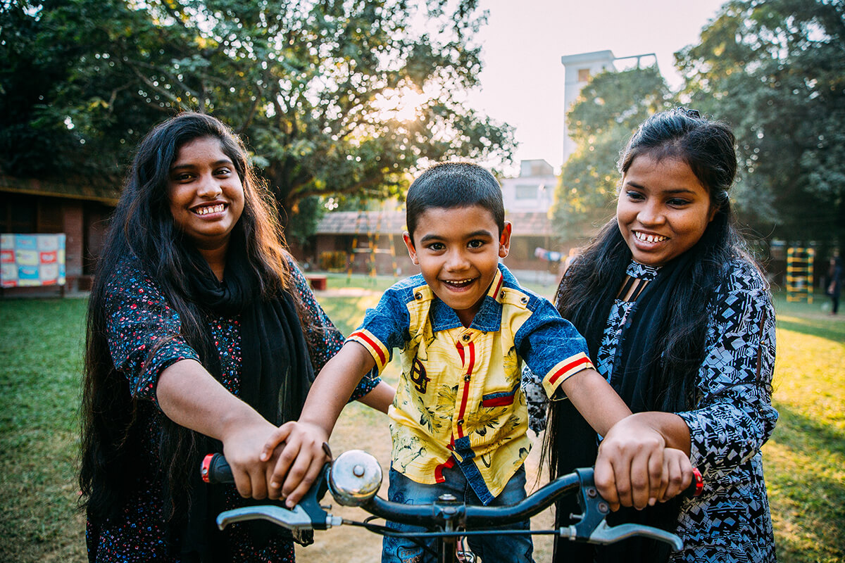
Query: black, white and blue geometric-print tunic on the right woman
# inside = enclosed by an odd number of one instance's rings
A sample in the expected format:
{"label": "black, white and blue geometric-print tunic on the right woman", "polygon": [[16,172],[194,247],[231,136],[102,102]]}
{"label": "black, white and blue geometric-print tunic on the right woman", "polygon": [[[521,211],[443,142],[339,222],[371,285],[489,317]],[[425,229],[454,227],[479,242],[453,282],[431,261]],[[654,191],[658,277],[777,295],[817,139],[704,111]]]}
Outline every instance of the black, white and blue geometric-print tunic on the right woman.
{"label": "black, white and blue geometric-print tunic on the right woman", "polygon": [[[632,262],[628,275],[651,280],[657,268]],[[698,376],[699,403],[678,413],[690,427],[690,460],[701,470],[705,490],[684,501],[676,533],[684,549],[673,561],[726,563],[775,560],[769,501],[760,447],[771,436],[777,411],[771,406],[775,365],[775,311],[766,282],[742,260],[725,275],[722,295],[710,305],[706,357]],[[616,300],[596,358],[608,379],[619,365],[626,319],[635,301]],[[523,373],[526,387],[537,378]],[[529,394],[538,398],[537,392]],[[537,418],[532,429],[545,428],[545,407],[532,400]]]}

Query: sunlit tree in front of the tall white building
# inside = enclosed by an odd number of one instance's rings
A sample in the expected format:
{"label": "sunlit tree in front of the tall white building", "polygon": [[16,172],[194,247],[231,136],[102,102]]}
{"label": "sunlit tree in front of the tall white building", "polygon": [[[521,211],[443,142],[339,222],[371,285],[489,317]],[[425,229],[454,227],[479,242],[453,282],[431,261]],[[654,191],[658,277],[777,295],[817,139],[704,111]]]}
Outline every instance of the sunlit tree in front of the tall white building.
{"label": "sunlit tree in front of the tall white building", "polygon": [[607,219],[619,185],[619,151],[646,117],[671,106],[672,94],[657,66],[605,71],[591,78],[567,114],[576,149],[564,164],[552,207],[563,238],[589,235]]}

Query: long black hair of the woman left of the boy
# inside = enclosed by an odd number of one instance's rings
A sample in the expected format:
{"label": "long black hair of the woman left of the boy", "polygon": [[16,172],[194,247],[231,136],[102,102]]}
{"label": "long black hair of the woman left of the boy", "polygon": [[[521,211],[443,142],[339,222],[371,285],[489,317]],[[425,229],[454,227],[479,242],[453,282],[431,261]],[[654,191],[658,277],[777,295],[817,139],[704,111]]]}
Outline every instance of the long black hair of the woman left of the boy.
{"label": "long black hair of the woman left of the boy", "polygon": [[[203,363],[213,361],[217,354],[205,344],[204,313],[185,289],[185,280],[196,268],[196,262],[191,258],[189,239],[173,222],[167,197],[170,167],[179,149],[198,138],[220,142],[243,185],[243,214],[232,230],[230,252],[243,252],[247,257],[260,298],[278,295],[290,284],[290,257],[279,220],[269,192],[254,176],[240,138],[215,117],[194,112],[174,116],[150,131],[139,144],[112,215],[88,306],[79,485],[82,506],[90,517],[115,514],[125,501],[129,484],[143,470],[128,447],[135,442],[132,436],[140,432],[135,424],[139,404],[128,378],[115,369],[106,340],[109,273],[128,257],[137,258],[139,267],[155,281],[179,314],[181,336],[194,347]],[[297,295],[295,291],[291,293]],[[155,351],[150,349],[148,357]],[[162,463],[167,464],[166,483],[172,499],[180,495],[184,498],[188,472],[195,469],[188,468],[184,460],[188,452],[196,450],[202,437],[162,418],[164,430],[159,449]]]}

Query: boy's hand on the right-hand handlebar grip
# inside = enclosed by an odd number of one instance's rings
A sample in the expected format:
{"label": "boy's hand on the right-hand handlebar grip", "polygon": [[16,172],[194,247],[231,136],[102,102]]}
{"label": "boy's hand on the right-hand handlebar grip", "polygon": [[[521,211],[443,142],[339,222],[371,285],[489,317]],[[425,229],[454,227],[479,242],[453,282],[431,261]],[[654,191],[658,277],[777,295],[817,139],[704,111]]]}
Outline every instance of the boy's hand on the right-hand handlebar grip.
{"label": "boy's hand on the right-hand handlebar grip", "polygon": [[[613,425],[598,447],[595,469],[596,487],[611,510],[619,510],[619,506],[638,510],[654,506],[658,498],[674,490],[675,485],[670,489],[664,476],[663,469],[668,467],[665,452],[663,436],[635,417]],[[677,463],[677,458],[673,458],[676,472]]]}

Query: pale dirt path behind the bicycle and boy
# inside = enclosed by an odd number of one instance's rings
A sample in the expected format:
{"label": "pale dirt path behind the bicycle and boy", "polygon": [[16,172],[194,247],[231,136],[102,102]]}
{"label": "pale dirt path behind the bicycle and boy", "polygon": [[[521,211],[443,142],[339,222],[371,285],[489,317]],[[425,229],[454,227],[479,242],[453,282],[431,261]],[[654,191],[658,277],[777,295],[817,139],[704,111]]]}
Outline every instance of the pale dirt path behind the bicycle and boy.
{"label": "pale dirt path behind the bicycle and boy", "polygon": [[[537,474],[537,459],[540,441],[535,441],[526,464],[529,488]],[[390,465],[390,431],[387,418],[358,404],[344,409],[341,419],[331,438],[331,449],[335,455],[350,449],[370,452],[379,459],[384,471],[384,482],[379,495],[387,498],[387,469]],[[326,497],[324,501],[328,501]],[[332,514],[357,521],[368,516],[357,508],[332,506]],[[551,509],[532,518],[532,528],[551,528]],[[372,563],[381,557],[381,536],[363,528],[341,526],[314,534],[314,543],[307,548],[297,546],[297,563]],[[548,536],[534,537],[534,559],[538,562],[552,559],[552,539]]]}

